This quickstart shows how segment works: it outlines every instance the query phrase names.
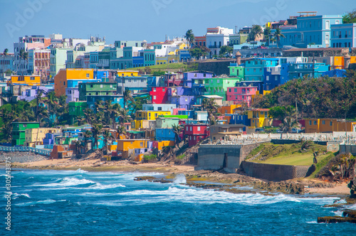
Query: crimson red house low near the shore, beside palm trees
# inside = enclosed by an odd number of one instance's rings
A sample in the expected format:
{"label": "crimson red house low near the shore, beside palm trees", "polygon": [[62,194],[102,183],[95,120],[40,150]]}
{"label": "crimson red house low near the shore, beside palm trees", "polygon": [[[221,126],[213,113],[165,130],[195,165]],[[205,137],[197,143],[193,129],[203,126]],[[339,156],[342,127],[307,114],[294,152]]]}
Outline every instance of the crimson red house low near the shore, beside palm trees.
{"label": "crimson red house low near the shore, beside palm trees", "polygon": [[199,141],[210,136],[209,125],[207,124],[186,124],[184,135],[188,137],[188,145],[194,146]]}

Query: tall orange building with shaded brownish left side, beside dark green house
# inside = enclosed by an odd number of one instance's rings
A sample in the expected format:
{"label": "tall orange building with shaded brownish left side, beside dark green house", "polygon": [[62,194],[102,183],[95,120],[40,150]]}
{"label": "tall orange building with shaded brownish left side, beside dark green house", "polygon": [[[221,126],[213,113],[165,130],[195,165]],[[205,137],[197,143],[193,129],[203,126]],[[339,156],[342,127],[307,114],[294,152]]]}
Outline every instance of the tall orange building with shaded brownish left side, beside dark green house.
{"label": "tall orange building with shaded brownish left side, beside dark green house", "polygon": [[75,87],[79,82],[94,80],[94,69],[61,69],[54,77],[56,96],[66,95],[67,87]]}

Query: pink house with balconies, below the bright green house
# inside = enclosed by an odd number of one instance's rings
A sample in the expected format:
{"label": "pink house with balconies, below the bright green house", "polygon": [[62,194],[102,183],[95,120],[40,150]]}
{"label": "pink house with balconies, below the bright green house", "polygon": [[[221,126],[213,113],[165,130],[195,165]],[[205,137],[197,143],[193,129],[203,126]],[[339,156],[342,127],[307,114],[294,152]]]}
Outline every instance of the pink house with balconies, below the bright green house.
{"label": "pink house with balconies, below the bright green house", "polygon": [[258,87],[228,87],[226,99],[234,101],[234,104],[239,102],[247,102],[248,107],[251,106],[252,95],[256,95]]}

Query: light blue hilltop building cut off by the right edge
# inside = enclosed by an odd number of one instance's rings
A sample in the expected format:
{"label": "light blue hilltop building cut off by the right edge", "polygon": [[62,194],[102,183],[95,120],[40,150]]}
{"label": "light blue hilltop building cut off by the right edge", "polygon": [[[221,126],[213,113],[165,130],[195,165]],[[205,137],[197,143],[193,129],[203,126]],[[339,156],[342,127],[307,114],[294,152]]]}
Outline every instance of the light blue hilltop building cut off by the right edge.
{"label": "light blue hilltop building cut off by the right edge", "polygon": [[342,23],[331,25],[331,47],[355,48],[356,23]]}

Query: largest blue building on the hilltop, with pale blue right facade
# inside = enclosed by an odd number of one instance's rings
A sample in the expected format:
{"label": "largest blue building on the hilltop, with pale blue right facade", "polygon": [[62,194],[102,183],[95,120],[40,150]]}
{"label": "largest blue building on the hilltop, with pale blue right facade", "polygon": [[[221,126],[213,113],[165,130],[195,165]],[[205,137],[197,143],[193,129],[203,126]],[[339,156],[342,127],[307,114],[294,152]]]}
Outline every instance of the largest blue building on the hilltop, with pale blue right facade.
{"label": "largest blue building on the hilltop, with pale blue right facade", "polygon": [[[305,12],[297,17],[294,26],[282,26],[281,31],[285,38],[281,38],[281,45],[290,45],[298,48],[330,47],[331,25],[342,23],[340,15],[316,16],[316,12]],[[273,32],[272,32],[273,33]]]}

